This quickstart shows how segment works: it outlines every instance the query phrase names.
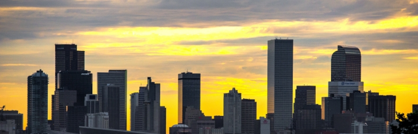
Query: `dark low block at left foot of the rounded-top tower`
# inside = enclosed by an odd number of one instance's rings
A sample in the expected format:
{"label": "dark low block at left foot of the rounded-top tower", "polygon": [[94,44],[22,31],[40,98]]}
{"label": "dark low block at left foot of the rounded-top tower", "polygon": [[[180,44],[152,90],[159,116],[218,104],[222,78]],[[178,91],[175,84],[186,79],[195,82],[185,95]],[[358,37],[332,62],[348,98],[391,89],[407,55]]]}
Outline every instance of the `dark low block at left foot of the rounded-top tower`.
{"label": "dark low block at left foot of the rounded-top tower", "polygon": [[324,119],[326,127],[333,127],[333,115],[341,113],[343,111],[342,106],[342,97],[322,97],[321,119]]}

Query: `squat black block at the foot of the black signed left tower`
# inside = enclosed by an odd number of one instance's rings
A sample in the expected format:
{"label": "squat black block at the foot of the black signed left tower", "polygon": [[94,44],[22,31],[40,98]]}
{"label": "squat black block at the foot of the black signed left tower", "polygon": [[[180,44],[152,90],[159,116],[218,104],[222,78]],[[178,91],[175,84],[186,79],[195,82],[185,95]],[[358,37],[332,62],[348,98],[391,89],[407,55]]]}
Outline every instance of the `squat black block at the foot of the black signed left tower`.
{"label": "squat black block at the foot of the black signed left tower", "polygon": [[79,126],[84,126],[87,106],[67,106],[67,132],[79,133]]}

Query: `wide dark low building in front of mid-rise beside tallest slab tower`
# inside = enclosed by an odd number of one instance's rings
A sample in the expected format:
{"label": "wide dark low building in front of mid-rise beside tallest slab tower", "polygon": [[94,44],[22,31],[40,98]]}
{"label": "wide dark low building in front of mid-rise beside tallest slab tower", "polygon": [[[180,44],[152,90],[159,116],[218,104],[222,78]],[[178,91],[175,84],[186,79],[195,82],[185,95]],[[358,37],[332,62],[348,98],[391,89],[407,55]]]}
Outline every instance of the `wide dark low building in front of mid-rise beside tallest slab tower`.
{"label": "wide dark low building in front of mid-rise beside tallest slab tower", "polygon": [[306,134],[309,131],[321,129],[321,106],[303,105],[301,109],[295,111],[293,121],[296,134]]}

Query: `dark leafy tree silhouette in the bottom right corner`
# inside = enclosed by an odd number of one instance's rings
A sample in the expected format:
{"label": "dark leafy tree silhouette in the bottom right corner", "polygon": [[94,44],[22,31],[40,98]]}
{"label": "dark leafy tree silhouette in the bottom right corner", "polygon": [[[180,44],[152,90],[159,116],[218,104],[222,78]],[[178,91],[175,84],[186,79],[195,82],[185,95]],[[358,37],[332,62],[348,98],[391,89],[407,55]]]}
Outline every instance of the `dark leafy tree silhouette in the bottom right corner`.
{"label": "dark leafy tree silhouette in the bottom right corner", "polygon": [[418,110],[409,113],[407,115],[408,118],[405,118],[404,113],[396,112],[396,116],[398,117],[396,121],[399,125],[390,125],[392,134],[418,134]]}

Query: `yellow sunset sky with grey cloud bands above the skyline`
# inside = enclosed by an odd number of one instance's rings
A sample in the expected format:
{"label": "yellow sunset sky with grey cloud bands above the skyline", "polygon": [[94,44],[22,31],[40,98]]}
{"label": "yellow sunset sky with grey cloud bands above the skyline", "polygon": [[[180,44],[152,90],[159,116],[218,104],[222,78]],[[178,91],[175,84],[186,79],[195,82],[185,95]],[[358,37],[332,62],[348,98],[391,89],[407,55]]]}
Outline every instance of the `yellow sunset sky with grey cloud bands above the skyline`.
{"label": "yellow sunset sky with grey cloud bands above the skyline", "polygon": [[23,113],[25,127],[28,75],[46,72],[52,95],[54,44],[74,42],[93,93],[97,72],[108,70],[128,71],[128,95],[147,77],[161,83],[167,128],[177,124],[177,78],[187,70],[201,73],[206,116],[223,115],[232,88],[265,116],[275,37],[294,40],[293,89],[315,85],[318,104],[338,45],[360,49],[365,91],[396,95],[402,113],[418,104],[418,0],[1,0],[0,105]]}

